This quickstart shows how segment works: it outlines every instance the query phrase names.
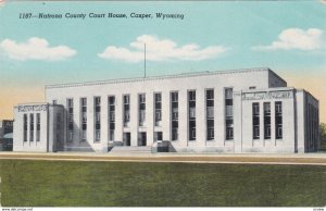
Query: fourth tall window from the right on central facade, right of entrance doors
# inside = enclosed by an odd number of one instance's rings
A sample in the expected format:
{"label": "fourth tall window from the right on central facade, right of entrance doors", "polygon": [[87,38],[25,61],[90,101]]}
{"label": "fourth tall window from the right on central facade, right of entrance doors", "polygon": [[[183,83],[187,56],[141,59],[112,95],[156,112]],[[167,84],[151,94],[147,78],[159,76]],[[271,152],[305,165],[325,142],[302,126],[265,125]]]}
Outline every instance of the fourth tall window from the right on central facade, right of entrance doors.
{"label": "fourth tall window from the right on central facade, right of entrance doors", "polygon": [[178,139],[178,92],[173,91],[170,94],[171,101],[171,131],[172,131],[172,140]]}

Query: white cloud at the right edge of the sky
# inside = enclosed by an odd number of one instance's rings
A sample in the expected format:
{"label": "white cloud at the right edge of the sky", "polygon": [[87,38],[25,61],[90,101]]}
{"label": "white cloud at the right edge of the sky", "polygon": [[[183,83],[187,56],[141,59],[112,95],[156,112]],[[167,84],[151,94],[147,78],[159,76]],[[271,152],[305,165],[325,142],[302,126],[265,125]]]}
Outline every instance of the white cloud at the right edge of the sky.
{"label": "white cloud at the right edge of the sky", "polygon": [[300,28],[287,28],[283,30],[278,40],[273,41],[268,46],[255,46],[253,50],[318,50],[325,47],[323,42],[323,30],[318,28],[309,28],[302,30]]}

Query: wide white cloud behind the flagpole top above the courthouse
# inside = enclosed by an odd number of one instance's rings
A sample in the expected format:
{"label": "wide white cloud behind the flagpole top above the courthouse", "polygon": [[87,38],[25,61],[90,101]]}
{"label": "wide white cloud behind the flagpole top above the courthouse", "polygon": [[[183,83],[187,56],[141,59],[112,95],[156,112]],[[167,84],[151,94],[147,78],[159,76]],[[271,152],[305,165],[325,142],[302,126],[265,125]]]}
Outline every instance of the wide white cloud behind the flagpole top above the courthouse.
{"label": "wide white cloud behind the flagpole top above the courthouse", "polygon": [[142,35],[137,37],[137,39],[130,44],[130,49],[109,46],[102,53],[98,53],[98,55],[102,59],[109,60],[140,62],[143,61],[145,44],[146,58],[148,61],[200,61],[214,58],[227,50],[227,48],[223,46],[201,48],[196,44],[178,47],[173,40],[159,39],[158,37],[151,35]]}

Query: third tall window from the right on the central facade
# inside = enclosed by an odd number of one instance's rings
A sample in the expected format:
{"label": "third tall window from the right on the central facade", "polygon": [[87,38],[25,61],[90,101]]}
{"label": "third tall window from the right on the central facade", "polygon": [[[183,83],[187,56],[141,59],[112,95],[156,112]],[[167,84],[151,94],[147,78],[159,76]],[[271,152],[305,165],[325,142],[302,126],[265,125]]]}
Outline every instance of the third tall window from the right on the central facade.
{"label": "third tall window from the right on the central facade", "polygon": [[196,90],[188,91],[189,140],[196,140]]}

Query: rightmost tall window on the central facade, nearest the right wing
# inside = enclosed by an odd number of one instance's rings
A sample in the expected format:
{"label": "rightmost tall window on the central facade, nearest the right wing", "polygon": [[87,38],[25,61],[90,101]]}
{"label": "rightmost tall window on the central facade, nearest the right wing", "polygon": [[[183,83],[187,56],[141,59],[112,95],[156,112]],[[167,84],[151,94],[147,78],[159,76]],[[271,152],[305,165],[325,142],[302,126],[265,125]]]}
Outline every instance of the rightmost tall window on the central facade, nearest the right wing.
{"label": "rightmost tall window on the central facade, nearest the right wing", "polygon": [[225,138],[234,139],[234,95],[233,88],[225,88]]}

